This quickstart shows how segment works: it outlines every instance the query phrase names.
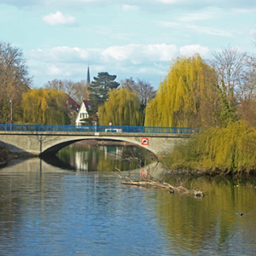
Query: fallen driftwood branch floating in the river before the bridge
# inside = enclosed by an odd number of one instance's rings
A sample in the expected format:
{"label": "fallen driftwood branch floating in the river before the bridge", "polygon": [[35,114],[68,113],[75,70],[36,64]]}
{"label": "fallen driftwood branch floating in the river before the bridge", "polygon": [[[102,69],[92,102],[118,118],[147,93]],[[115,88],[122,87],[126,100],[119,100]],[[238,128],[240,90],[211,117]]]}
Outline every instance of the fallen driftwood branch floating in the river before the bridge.
{"label": "fallen driftwood branch floating in the river before the bridge", "polygon": [[133,181],[130,177],[126,177],[123,172],[121,172],[118,168],[116,168],[122,176],[119,176],[123,181],[122,184],[137,186],[140,188],[159,188],[159,189],[168,189],[170,193],[183,193],[186,195],[195,195],[198,197],[203,197],[204,193],[201,190],[197,189],[186,189],[183,186],[175,187],[170,183],[160,183],[153,181],[149,178],[142,178],[140,181]]}

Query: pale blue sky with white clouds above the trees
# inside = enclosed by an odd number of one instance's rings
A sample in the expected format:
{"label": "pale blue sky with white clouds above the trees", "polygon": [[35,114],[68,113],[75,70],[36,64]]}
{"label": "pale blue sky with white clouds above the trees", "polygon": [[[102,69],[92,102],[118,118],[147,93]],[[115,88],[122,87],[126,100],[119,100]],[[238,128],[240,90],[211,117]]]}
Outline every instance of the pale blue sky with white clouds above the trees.
{"label": "pale blue sky with white clouds above the trees", "polygon": [[255,0],[0,0],[0,42],[20,48],[33,87],[108,72],[155,89],[178,56],[255,53]]}

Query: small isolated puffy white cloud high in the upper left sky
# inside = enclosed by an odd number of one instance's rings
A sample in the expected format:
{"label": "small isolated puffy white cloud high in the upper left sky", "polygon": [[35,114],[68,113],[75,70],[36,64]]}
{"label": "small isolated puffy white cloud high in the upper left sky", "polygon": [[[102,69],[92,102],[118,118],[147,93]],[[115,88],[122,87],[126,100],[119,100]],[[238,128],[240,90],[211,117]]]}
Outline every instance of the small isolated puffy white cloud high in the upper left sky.
{"label": "small isolated puffy white cloud high in the upper left sky", "polygon": [[72,15],[62,15],[60,11],[57,11],[55,14],[46,15],[43,17],[44,22],[52,26],[73,26],[77,24],[75,17]]}

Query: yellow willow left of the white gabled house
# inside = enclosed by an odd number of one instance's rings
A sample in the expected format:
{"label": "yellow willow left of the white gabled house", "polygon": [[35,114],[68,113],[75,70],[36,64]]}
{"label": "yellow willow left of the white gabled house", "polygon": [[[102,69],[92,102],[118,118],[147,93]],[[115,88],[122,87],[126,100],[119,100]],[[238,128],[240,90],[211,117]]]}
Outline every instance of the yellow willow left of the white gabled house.
{"label": "yellow willow left of the white gabled house", "polygon": [[33,89],[22,96],[23,122],[32,125],[69,125],[67,95],[60,90]]}

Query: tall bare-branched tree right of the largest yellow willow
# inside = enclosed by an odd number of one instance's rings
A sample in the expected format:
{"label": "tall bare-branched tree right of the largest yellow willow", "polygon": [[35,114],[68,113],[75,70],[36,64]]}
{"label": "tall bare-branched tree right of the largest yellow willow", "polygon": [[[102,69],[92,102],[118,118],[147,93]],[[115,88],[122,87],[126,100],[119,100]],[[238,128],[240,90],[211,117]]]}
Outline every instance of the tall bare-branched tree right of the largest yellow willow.
{"label": "tall bare-branched tree right of the largest yellow willow", "polygon": [[[227,99],[224,104],[226,109],[230,109],[230,113],[233,112],[233,119],[238,114],[238,117],[255,126],[255,56],[232,47],[215,53],[214,57],[213,66],[218,73],[219,89]],[[226,117],[224,118],[226,119]]]}

